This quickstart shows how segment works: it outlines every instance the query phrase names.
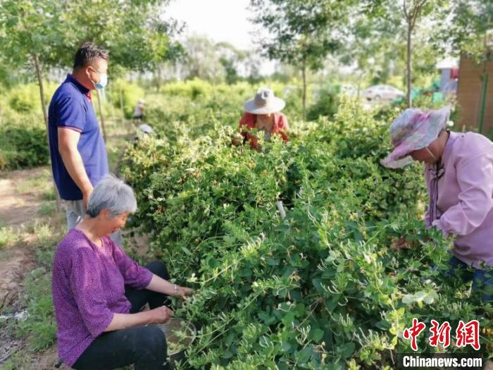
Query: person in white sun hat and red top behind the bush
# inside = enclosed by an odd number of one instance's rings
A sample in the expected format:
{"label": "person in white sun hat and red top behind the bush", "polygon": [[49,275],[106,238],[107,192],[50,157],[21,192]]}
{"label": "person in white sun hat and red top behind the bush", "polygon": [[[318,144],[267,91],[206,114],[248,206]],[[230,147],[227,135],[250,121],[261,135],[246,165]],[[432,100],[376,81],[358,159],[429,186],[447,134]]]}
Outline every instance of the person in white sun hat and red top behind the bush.
{"label": "person in white sun hat and red top behind the bush", "polygon": [[257,137],[251,135],[248,130],[258,128],[264,132],[264,139],[270,140],[271,135],[280,135],[284,142],[288,142],[287,118],[280,111],[286,103],[274,96],[274,92],[266,87],[258,89],[254,99],[249,99],[244,104],[244,114],[239,121],[239,128],[243,136],[243,142],[250,142],[252,149],[259,149]]}

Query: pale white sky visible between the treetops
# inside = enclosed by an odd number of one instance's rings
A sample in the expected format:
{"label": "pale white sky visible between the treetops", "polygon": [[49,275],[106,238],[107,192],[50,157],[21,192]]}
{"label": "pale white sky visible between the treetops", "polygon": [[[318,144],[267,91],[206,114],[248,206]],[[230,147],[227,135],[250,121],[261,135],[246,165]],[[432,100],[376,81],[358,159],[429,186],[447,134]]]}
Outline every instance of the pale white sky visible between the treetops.
{"label": "pale white sky visible between the treetops", "polygon": [[[214,42],[229,42],[237,49],[255,49],[254,34],[258,25],[251,23],[249,0],[173,0],[165,18],[184,21],[183,36],[206,35]],[[270,74],[275,63],[266,61],[261,73]]]}

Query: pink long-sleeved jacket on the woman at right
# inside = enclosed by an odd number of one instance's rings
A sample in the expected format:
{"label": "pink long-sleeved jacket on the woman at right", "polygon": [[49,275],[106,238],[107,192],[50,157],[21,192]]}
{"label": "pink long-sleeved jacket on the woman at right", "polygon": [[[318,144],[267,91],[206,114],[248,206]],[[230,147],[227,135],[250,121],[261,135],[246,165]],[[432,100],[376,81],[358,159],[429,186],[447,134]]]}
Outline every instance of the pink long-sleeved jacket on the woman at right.
{"label": "pink long-sleeved jacket on the woman at right", "polygon": [[442,166],[425,166],[428,227],[456,235],[454,255],[493,266],[493,143],[474,132],[450,132]]}

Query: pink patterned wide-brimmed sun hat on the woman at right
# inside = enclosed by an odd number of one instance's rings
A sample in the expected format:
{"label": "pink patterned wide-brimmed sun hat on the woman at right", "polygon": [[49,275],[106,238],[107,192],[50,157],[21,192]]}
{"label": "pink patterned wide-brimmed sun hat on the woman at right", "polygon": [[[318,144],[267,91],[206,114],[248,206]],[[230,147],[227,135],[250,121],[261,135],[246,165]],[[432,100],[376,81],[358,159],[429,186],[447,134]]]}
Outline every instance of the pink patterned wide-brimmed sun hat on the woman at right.
{"label": "pink patterned wide-brimmed sun hat on the woman at right", "polygon": [[394,151],[380,164],[388,168],[401,168],[413,159],[409,153],[428,147],[444,130],[450,117],[450,106],[442,109],[421,111],[406,109],[390,125],[390,140]]}

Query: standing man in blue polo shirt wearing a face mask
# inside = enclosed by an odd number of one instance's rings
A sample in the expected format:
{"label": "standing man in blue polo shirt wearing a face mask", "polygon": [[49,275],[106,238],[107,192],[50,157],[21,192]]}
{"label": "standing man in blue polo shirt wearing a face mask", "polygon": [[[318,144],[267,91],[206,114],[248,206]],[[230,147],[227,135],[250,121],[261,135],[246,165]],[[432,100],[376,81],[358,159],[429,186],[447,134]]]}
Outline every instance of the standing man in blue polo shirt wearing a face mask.
{"label": "standing man in blue polo shirt wearing a face mask", "polygon": [[[108,52],[91,42],[75,53],[72,74],[58,87],[48,112],[51,169],[65,201],[68,230],[82,221],[94,186],[108,174],[106,146],[91,90],[108,82]],[[121,244],[121,235],[112,238]]]}

